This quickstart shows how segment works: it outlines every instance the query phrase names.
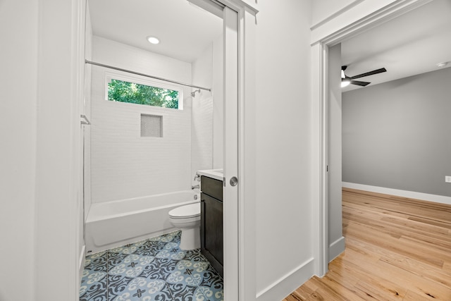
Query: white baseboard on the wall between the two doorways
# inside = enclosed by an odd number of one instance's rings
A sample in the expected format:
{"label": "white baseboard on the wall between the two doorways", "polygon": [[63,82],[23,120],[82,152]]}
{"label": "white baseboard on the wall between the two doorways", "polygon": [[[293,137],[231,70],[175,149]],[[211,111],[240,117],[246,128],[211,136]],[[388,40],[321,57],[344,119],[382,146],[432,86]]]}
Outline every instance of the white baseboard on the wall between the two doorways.
{"label": "white baseboard on the wall between the two doorways", "polygon": [[283,300],[313,275],[314,259],[311,258],[257,293],[257,301]]}

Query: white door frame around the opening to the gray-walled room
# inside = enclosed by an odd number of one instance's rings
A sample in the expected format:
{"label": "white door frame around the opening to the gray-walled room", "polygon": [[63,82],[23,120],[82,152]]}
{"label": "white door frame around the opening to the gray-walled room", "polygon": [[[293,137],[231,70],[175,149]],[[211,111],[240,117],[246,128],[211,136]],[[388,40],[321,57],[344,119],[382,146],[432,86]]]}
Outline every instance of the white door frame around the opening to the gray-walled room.
{"label": "white door frame around the opening to the gray-walled room", "polygon": [[401,16],[432,0],[397,0],[364,18],[347,25],[338,27],[330,35],[313,41],[311,44],[311,104],[313,113],[313,162],[312,183],[314,185],[314,216],[317,216],[314,232],[318,240],[314,244],[316,274],[323,276],[328,271],[328,49],[345,39],[359,35],[371,27]]}

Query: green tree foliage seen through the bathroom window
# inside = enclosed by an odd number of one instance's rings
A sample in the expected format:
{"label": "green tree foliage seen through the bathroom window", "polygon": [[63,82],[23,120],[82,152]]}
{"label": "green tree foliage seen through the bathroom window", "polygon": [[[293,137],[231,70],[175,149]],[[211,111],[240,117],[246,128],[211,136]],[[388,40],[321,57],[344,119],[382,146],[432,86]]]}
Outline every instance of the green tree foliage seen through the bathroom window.
{"label": "green tree foliage seen through the bathroom window", "polygon": [[178,91],[111,79],[108,100],[178,109]]}

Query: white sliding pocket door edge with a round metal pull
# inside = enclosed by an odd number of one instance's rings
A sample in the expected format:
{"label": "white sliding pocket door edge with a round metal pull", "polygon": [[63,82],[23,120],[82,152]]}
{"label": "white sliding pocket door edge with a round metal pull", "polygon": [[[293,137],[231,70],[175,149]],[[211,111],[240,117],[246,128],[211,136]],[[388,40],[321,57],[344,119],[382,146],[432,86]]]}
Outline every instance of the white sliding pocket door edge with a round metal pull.
{"label": "white sliding pocket door edge with a round metal pull", "polygon": [[238,16],[226,7],[224,20],[224,297],[238,300]]}

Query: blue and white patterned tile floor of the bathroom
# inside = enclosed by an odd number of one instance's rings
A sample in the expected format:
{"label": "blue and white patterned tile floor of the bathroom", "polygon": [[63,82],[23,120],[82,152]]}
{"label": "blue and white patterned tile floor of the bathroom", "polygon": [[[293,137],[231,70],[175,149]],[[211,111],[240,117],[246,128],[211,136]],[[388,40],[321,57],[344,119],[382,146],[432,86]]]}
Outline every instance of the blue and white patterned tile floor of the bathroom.
{"label": "blue and white patterned tile floor of the bathroom", "polygon": [[223,279],[199,250],[180,247],[180,231],[89,254],[80,301],[217,301]]}

